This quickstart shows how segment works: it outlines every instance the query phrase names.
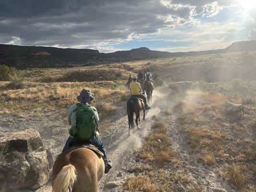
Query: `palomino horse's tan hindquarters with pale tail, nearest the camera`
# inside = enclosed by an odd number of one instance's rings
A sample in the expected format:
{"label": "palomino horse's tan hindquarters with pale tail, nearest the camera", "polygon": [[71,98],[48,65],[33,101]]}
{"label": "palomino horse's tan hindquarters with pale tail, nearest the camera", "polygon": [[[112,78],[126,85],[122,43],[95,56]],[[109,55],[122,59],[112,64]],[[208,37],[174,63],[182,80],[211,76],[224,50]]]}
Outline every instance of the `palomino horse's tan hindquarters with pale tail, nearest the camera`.
{"label": "palomino horse's tan hindquarters with pale tail, nearest the camera", "polygon": [[98,192],[105,164],[87,148],[70,149],[56,159],[52,168],[53,192]]}

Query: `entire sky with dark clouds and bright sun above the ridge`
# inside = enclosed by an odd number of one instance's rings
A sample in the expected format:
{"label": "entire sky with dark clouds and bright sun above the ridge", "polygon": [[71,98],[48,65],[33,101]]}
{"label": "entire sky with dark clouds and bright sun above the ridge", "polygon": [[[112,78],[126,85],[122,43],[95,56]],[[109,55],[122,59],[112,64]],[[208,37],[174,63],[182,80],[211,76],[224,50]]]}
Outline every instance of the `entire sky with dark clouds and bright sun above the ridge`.
{"label": "entire sky with dark clouds and bright sun above the ridge", "polygon": [[256,0],[0,0],[0,43],[179,52],[256,40]]}

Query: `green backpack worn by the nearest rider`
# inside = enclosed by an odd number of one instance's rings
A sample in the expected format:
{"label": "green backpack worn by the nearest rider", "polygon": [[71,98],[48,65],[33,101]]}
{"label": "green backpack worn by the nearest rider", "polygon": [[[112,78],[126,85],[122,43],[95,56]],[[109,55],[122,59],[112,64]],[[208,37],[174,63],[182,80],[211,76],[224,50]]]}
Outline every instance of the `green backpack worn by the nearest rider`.
{"label": "green backpack worn by the nearest rider", "polygon": [[77,104],[76,126],[69,130],[74,140],[88,140],[97,131],[94,109],[90,105]]}

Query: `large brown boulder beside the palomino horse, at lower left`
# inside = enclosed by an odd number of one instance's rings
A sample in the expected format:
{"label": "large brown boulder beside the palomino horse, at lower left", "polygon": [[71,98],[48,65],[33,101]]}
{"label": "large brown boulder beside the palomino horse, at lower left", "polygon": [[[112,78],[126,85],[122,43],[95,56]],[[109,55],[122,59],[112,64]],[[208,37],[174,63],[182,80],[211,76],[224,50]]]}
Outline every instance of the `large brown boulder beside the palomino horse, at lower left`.
{"label": "large brown boulder beside the palomino horse, at lower left", "polygon": [[[3,191],[36,189],[49,179],[50,152],[34,129],[15,132],[0,141],[0,183]],[[51,162],[50,162],[51,163]]]}

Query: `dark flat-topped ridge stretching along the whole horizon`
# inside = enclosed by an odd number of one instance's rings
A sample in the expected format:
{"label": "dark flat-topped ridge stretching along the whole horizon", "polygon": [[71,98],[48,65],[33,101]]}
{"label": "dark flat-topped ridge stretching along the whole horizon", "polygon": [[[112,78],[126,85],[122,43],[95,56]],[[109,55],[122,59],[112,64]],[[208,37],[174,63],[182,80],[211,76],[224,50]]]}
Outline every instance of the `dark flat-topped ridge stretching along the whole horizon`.
{"label": "dark flat-topped ridge stretching along the whole horizon", "polygon": [[73,49],[0,44],[0,64],[18,69],[31,67],[74,67],[100,63],[117,63],[135,60],[149,60],[168,57],[220,54],[232,51],[256,50],[256,41],[232,43],[225,49],[170,53],[149,48],[134,48],[113,53],[99,53],[94,49]]}

